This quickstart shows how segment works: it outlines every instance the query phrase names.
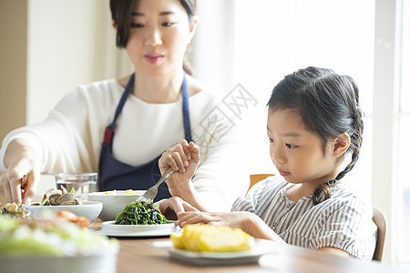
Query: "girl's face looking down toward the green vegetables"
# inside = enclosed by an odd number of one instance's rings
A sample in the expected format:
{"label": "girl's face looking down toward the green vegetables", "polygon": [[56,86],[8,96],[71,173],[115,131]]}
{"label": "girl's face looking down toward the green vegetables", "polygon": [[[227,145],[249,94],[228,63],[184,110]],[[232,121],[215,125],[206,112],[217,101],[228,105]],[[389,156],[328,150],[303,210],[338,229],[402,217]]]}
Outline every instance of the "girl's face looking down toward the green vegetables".
{"label": "girl's face looking down toward the green vegetables", "polygon": [[323,155],[321,139],[305,130],[299,114],[269,110],[267,129],[272,162],[287,182],[316,186],[337,175],[332,144]]}

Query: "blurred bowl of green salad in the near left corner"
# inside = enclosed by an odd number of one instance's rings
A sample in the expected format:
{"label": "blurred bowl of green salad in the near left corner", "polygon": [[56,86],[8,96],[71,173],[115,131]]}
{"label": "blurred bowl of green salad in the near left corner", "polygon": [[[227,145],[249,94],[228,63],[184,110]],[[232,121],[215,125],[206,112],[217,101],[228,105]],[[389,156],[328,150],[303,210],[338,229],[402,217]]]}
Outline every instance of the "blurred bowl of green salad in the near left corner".
{"label": "blurred bowl of green salad in the near left corner", "polygon": [[117,240],[54,214],[30,220],[0,215],[1,272],[115,273],[118,250]]}

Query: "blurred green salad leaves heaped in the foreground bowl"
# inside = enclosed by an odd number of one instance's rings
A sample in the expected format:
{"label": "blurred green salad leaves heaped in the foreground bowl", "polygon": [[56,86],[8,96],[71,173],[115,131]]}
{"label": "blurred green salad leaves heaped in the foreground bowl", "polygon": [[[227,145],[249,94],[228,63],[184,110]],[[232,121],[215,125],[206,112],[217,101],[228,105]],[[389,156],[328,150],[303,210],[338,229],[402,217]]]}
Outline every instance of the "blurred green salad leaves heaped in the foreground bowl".
{"label": "blurred green salad leaves heaped in the foreground bowl", "polygon": [[30,219],[0,215],[0,256],[76,256],[117,249],[118,242],[63,217]]}

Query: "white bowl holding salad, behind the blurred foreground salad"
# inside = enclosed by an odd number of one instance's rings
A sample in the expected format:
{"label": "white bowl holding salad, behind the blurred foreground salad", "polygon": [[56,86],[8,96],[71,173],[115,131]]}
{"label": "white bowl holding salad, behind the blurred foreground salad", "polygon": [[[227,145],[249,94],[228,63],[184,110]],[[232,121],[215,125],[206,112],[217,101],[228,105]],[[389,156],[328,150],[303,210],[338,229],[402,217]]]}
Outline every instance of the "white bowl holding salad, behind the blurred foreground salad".
{"label": "white bowl holding salad, behind the blurred foreground salad", "polygon": [[91,202],[84,201],[84,205],[75,205],[75,206],[25,206],[31,214],[36,216],[41,216],[45,211],[51,211],[56,213],[61,210],[68,210],[74,213],[77,216],[87,217],[90,222],[93,222],[97,219],[99,213],[103,208],[101,202]]}

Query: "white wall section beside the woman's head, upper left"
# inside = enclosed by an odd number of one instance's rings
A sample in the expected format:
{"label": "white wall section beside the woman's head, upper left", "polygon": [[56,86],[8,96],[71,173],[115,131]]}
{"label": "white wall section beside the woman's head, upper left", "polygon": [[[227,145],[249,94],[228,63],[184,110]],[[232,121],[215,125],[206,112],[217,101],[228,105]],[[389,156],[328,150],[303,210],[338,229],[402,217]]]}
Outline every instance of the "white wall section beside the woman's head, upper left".
{"label": "white wall section beside the woman's head, upper left", "polygon": [[29,0],[27,124],[80,84],[125,75],[109,0]]}

